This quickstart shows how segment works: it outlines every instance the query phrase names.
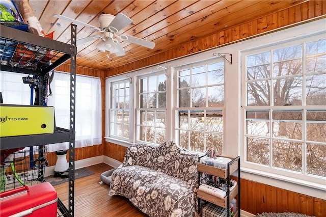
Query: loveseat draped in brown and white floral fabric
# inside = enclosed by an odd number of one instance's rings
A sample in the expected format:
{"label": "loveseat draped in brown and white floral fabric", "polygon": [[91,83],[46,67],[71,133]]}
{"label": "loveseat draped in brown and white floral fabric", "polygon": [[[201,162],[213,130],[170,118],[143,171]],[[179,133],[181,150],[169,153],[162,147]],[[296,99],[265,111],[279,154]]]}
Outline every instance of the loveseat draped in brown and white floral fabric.
{"label": "loveseat draped in brown and white floral fabric", "polygon": [[173,141],[130,146],[112,174],[109,195],[120,195],[151,217],[195,216],[198,155]]}

